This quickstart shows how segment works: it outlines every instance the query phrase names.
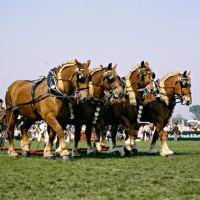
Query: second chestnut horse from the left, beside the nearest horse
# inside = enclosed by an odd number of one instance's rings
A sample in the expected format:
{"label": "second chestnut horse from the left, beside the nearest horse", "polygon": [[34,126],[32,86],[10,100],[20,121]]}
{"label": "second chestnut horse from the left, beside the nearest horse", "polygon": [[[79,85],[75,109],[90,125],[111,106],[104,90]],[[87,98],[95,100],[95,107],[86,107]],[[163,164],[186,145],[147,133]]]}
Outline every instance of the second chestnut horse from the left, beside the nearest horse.
{"label": "second chestnut horse from the left, beside the nearest horse", "polygon": [[[87,153],[93,153],[91,145],[91,129],[94,127],[96,130],[100,127],[100,121],[103,113],[107,107],[111,106],[112,99],[121,99],[124,95],[124,88],[121,84],[120,78],[117,75],[116,67],[112,67],[110,63],[108,67],[100,65],[90,70],[90,76],[92,81],[90,82],[90,95],[87,101],[80,102],[77,107],[74,108],[74,113],[77,113],[78,123],[72,122],[68,119],[63,119],[62,126],[66,127],[67,124],[75,123],[75,139],[74,148],[72,150],[73,157],[79,157],[78,142],[80,141],[80,130],[83,124],[86,125],[85,134],[87,137],[88,149]],[[108,96],[105,95],[105,90],[108,92]],[[107,101],[106,101],[107,99]],[[56,150],[59,153],[60,147]]]}

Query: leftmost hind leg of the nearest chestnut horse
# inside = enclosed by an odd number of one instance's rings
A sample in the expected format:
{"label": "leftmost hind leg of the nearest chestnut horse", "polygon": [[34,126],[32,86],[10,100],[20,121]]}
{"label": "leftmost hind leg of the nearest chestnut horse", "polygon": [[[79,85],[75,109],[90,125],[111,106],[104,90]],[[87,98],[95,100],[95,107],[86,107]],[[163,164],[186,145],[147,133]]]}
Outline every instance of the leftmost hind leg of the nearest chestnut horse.
{"label": "leftmost hind leg of the nearest chestnut horse", "polygon": [[17,119],[17,116],[13,113],[12,110],[7,110],[6,117],[8,120],[8,129],[7,129],[8,140],[9,140],[8,154],[10,158],[16,158],[18,156],[18,153],[15,151],[15,148],[14,148],[13,136],[14,136],[14,126],[15,126],[15,121]]}

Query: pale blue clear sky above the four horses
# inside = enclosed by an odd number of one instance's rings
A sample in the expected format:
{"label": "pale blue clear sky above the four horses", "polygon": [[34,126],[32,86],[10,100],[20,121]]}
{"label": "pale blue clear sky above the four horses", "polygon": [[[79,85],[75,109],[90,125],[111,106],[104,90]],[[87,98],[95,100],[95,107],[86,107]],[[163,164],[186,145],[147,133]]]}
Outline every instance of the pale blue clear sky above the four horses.
{"label": "pale blue clear sky above the four horses", "polygon": [[[0,98],[15,80],[46,76],[45,62],[112,62],[125,76],[144,60],[156,78],[191,71],[192,105],[200,105],[198,0],[1,0],[0,27]],[[191,118],[186,106],[177,114]]]}

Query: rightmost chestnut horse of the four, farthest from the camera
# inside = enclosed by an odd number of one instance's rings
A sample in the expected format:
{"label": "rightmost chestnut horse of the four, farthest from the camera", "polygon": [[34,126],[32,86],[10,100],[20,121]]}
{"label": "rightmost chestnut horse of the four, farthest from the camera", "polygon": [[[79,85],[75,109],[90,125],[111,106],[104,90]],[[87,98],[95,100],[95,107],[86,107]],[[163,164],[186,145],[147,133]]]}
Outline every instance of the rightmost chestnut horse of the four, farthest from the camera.
{"label": "rightmost chestnut horse of the four, farthest from the camera", "polygon": [[[190,72],[185,71],[181,74],[179,71],[168,73],[157,83],[160,90],[160,101],[157,101],[152,95],[147,95],[141,114],[141,121],[149,121],[156,126],[152,141],[147,150],[150,154],[157,154],[155,149],[158,137],[162,143],[161,156],[173,156],[174,153],[167,145],[167,136],[163,128],[168,124],[176,105],[176,99],[181,104],[189,106],[192,103],[191,96],[191,78]],[[136,123],[132,121],[132,123]]]}

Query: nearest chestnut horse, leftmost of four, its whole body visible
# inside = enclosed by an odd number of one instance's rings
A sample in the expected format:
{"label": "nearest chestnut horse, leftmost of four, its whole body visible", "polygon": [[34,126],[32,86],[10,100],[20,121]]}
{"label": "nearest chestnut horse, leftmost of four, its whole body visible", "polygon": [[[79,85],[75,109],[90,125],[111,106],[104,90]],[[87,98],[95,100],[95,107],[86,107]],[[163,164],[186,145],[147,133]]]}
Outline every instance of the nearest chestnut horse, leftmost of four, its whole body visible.
{"label": "nearest chestnut horse, leftmost of four, its whole body visible", "polygon": [[[9,156],[18,156],[13,144],[14,125],[19,115],[25,118],[20,127],[22,133],[21,153],[30,154],[30,142],[27,136],[29,127],[35,121],[44,120],[52,130],[56,131],[60,140],[60,155],[63,160],[70,160],[70,153],[64,140],[64,131],[59,121],[73,115],[69,111],[71,100],[85,100],[89,94],[90,60],[79,63],[76,59],[52,69],[47,78],[36,83],[26,80],[13,82],[5,97],[6,117],[8,120]],[[76,119],[76,116],[74,116]],[[50,133],[51,135],[51,133]],[[52,158],[51,144],[47,144],[44,157]]]}

